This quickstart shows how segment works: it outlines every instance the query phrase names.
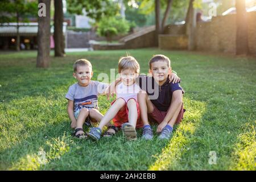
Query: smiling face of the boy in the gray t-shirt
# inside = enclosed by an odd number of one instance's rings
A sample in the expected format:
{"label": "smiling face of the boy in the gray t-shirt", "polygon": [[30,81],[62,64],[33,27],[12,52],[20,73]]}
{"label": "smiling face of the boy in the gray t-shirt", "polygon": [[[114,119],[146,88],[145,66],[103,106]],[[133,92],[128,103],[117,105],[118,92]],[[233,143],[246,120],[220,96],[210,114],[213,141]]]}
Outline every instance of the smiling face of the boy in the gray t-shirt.
{"label": "smiling face of the boy in the gray t-shirt", "polygon": [[93,76],[92,68],[89,65],[77,65],[76,72],[73,73],[73,76],[79,82],[80,86],[87,86]]}

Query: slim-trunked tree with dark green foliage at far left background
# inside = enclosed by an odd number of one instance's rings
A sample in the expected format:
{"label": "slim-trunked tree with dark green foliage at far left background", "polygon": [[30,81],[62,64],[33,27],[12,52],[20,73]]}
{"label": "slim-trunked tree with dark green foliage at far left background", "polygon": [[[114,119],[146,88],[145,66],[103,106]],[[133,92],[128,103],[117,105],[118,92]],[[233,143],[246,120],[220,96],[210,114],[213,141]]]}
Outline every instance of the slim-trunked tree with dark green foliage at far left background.
{"label": "slim-trunked tree with dark green foliage at far left background", "polygon": [[37,3],[26,0],[0,1],[0,22],[15,22],[16,26],[16,51],[20,51],[19,22],[27,22],[27,16],[36,16]]}

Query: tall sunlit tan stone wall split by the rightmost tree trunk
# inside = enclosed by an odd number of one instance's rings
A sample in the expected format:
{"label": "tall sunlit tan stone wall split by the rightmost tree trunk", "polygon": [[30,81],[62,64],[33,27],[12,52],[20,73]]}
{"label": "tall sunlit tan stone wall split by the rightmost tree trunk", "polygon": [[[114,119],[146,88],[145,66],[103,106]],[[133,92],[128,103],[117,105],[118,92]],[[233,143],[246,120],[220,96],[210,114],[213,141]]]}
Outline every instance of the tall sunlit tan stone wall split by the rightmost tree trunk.
{"label": "tall sunlit tan stone wall split by the rightmost tree trunk", "polygon": [[[248,46],[256,55],[256,12],[247,13]],[[236,53],[236,15],[213,17],[197,23],[196,47],[199,51]]]}

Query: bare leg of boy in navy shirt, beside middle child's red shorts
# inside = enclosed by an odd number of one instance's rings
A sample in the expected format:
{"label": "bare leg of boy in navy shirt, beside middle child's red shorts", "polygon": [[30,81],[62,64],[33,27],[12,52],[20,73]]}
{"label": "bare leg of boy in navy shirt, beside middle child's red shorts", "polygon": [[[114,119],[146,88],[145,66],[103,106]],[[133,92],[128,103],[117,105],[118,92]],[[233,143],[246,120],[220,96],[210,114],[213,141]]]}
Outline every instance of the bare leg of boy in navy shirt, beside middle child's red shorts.
{"label": "bare leg of boy in navy shirt, beside middle child's red shorts", "polygon": [[152,102],[148,99],[146,92],[142,91],[141,93],[138,93],[137,96],[143,125],[149,125],[147,113],[152,113],[154,111],[154,106]]}

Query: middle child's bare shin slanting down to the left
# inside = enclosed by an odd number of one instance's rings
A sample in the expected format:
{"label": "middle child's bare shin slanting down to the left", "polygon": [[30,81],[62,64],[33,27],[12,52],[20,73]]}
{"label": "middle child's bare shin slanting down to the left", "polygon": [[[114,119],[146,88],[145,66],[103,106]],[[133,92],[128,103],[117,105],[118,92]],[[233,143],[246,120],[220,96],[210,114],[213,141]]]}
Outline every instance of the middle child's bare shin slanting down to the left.
{"label": "middle child's bare shin slanting down to the left", "polygon": [[125,101],[122,98],[118,98],[114,104],[109,108],[108,112],[104,115],[101,119],[100,124],[98,127],[102,130],[102,128],[108,124],[118,113],[120,109],[125,105]]}

